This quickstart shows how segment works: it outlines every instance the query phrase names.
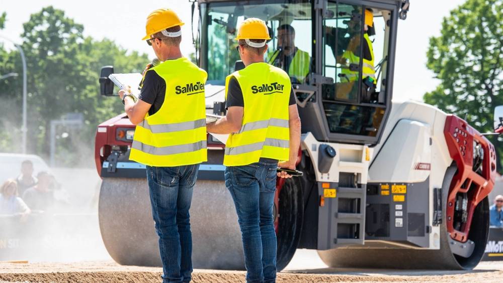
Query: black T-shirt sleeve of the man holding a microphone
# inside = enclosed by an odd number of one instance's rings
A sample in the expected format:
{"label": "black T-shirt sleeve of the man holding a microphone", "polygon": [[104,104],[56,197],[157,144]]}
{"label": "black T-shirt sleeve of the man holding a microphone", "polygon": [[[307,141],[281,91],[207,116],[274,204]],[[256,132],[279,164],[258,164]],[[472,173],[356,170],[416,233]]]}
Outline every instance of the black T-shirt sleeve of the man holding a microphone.
{"label": "black T-shirt sleeve of the man holding a microphone", "polygon": [[151,104],[148,109],[148,114],[153,115],[159,111],[164,102],[166,95],[166,82],[155,71],[148,71],[143,79],[143,86],[141,87],[138,98],[144,102]]}

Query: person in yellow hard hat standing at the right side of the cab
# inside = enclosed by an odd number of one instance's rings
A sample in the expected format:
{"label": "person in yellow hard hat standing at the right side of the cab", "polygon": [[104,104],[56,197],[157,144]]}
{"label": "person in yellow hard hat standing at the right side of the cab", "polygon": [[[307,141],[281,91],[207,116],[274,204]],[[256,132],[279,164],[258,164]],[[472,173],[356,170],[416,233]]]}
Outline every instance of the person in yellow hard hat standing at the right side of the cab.
{"label": "person in yellow hard hat standing at the right side of the cab", "polygon": [[[326,27],[325,44],[328,45],[337,63],[341,65],[341,81],[337,83],[336,98],[354,100],[357,97],[359,81],[360,50],[362,56],[362,97],[370,97],[375,91],[377,80],[374,68],[374,50],[369,36],[374,35],[374,16],[372,9],[366,9],[364,14],[363,44],[361,42],[361,15],[354,11],[350,20],[344,21],[347,28]],[[336,45],[337,43],[337,45]],[[369,98],[370,99],[370,98]]]}

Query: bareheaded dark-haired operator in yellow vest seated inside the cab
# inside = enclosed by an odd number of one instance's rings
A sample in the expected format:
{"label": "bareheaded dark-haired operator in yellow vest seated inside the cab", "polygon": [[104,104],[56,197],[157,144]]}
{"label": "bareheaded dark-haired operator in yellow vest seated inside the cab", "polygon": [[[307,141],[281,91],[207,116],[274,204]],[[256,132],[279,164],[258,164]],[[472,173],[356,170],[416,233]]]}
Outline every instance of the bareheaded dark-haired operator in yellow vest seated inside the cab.
{"label": "bareheaded dark-haired operator in yellow vest seated inside the cab", "polygon": [[269,57],[269,64],[287,72],[292,83],[305,83],[311,57],[295,46],[295,29],[288,24],[279,26],[277,39],[278,49]]}

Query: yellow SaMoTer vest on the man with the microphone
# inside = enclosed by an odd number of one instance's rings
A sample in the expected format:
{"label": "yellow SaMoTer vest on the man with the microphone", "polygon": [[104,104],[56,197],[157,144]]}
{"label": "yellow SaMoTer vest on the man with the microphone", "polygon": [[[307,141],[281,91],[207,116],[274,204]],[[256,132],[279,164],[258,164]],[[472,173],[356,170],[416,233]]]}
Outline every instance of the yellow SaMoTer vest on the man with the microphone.
{"label": "yellow SaMoTer vest on the man with the microphone", "polygon": [[207,161],[204,84],[208,74],[187,58],[167,60],[147,72],[166,82],[164,102],[136,125],[129,159],[155,167]]}

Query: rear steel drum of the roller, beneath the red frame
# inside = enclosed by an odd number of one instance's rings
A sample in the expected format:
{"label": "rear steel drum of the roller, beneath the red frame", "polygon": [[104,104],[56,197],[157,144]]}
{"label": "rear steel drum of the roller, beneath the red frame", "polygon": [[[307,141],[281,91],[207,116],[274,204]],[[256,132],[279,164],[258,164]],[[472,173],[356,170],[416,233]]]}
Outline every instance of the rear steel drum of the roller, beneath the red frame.
{"label": "rear steel drum of the roller, beneath the red frame", "polygon": [[456,167],[447,169],[442,184],[442,224],[440,226],[440,249],[383,249],[383,248],[339,248],[318,251],[323,262],[330,267],[392,268],[392,269],[473,269],[484,254],[489,236],[489,200],[486,197],[475,209],[468,238],[476,243],[468,258],[455,255],[449,246],[450,236],[446,227],[447,194]]}

